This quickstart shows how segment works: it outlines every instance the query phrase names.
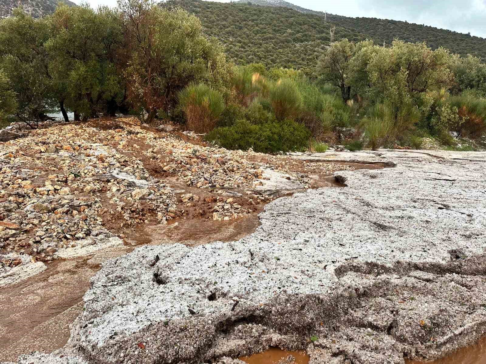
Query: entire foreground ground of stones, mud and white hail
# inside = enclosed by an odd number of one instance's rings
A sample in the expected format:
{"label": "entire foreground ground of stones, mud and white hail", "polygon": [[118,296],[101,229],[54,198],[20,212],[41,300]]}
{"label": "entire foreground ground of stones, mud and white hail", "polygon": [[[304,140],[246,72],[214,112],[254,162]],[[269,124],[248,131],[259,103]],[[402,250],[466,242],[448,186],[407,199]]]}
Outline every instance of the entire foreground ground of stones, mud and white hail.
{"label": "entire foreground ground of stones, mud and white hail", "polygon": [[449,355],[486,330],[485,163],[228,151],[132,118],[0,144],[0,360]]}

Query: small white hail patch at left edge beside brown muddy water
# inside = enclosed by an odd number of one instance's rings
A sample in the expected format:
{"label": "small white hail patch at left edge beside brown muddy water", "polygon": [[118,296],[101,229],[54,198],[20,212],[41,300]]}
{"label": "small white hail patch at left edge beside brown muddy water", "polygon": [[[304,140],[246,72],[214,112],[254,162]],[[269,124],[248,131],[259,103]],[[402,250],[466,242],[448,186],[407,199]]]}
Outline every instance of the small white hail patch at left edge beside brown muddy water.
{"label": "small white hail patch at left edge beside brown muddy water", "polygon": [[47,267],[26,254],[0,254],[0,287],[15,284],[32,277]]}

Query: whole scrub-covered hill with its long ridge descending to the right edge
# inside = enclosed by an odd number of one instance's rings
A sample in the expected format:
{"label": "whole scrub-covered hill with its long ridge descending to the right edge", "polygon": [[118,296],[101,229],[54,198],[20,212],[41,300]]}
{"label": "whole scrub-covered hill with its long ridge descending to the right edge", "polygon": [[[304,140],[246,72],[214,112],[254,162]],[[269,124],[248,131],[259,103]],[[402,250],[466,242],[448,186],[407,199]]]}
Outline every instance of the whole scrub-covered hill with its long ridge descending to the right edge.
{"label": "whole scrub-covered hill with its long ridge descending to the right edge", "polygon": [[[270,6],[258,5],[257,1]],[[236,63],[261,62],[310,71],[322,49],[329,44],[333,26],[336,27],[335,40],[373,39],[377,44],[383,41],[391,44],[394,38],[426,41],[434,49],[442,46],[454,53],[470,53],[486,59],[486,40],[468,34],[375,18],[328,14],[326,21],[324,13],[286,1],[257,1],[169,0],[165,4],[178,5],[199,17],[206,33],[220,39],[226,54]]]}

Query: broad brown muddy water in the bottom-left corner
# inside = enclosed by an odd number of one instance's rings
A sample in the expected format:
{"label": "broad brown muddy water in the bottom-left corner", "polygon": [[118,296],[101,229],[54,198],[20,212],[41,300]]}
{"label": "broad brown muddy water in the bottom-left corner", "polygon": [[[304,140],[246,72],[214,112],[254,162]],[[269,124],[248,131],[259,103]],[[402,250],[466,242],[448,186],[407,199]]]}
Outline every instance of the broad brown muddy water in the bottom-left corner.
{"label": "broad brown muddy water in the bottom-left corner", "polygon": [[98,269],[86,258],[58,260],[35,279],[0,289],[0,361],[62,347],[69,338],[69,323],[82,309],[89,279]]}

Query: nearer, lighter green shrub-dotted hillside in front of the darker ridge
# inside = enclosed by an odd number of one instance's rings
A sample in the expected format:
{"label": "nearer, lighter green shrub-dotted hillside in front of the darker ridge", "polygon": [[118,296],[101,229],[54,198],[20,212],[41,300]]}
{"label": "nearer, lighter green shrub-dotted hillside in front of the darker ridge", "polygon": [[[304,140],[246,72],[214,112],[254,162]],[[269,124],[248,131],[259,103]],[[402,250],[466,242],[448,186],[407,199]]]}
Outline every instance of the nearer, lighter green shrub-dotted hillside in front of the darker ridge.
{"label": "nearer, lighter green shrub-dotted hillside in front of the darker ridge", "polygon": [[[218,38],[228,57],[238,63],[310,70],[329,44],[331,24],[318,15],[290,8],[201,0],[167,1],[199,17],[208,35]],[[366,35],[336,26],[336,39],[360,41]]]}

